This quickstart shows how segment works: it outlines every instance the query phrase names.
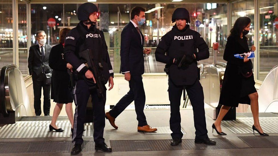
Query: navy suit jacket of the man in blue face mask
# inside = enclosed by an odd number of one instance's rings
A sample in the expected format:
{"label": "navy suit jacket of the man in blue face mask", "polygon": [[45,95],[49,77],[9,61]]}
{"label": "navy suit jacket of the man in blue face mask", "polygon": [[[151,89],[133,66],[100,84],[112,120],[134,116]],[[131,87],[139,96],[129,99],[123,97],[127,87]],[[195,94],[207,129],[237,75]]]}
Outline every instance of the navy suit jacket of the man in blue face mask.
{"label": "navy suit jacket of the man in blue face mask", "polygon": [[[142,36],[142,42],[141,37]],[[140,34],[129,22],[121,33],[121,67],[120,73],[130,72],[131,75],[144,74],[144,55],[143,55],[144,36]]]}

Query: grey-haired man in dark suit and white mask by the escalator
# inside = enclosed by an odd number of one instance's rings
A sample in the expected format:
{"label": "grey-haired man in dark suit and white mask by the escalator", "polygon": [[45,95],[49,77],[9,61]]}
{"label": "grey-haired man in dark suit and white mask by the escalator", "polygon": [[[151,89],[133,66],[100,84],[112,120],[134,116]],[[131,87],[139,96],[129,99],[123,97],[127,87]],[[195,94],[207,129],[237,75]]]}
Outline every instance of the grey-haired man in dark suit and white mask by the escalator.
{"label": "grey-haired man in dark suit and white mask by the escalator", "polygon": [[36,116],[40,116],[41,94],[43,89],[44,105],[43,111],[45,116],[49,116],[50,111],[50,88],[51,88],[51,68],[48,65],[48,57],[51,46],[46,43],[46,34],[40,30],[36,32],[37,45],[33,45],[29,50],[28,68],[29,74],[32,75],[34,89],[34,109]]}

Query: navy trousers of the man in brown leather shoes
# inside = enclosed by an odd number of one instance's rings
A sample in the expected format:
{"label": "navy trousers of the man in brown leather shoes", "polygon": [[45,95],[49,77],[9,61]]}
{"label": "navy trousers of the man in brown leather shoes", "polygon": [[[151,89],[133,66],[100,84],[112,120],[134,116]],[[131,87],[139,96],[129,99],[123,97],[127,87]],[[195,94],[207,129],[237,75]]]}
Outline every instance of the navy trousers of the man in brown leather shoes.
{"label": "navy trousers of the man in brown leather shoes", "polygon": [[142,75],[131,75],[129,83],[130,90],[120,101],[109,111],[110,115],[114,118],[118,117],[124,109],[132,101],[134,101],[135,112],[137,115],[138,126],[146,126],[146,116],[144,114],[144,107],[146,102],[145,90],[142,81]]}

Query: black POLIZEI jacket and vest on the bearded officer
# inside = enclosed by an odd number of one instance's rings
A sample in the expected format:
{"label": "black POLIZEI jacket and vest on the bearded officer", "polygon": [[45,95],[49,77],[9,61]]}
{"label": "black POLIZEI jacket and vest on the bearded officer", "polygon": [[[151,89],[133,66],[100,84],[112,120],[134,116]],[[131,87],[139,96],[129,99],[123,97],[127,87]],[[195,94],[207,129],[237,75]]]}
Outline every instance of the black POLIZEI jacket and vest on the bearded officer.
{"label": "black POLIZEI jacket and vest on the bearded officer", "polygon": [[[178,59],[183,55],[193,54],[196,55],[193,63],[181,68],[173,64],[173,58]],[[175,25],[171,31],[162,36],[155,56],[156,61],[169,65],[169,77],[175,85],[192,85],[199,75],[197,61],[209,58],[209,47],[203,37],[198,32],[191,30],[189,25],[183,30],[178,30]]]}

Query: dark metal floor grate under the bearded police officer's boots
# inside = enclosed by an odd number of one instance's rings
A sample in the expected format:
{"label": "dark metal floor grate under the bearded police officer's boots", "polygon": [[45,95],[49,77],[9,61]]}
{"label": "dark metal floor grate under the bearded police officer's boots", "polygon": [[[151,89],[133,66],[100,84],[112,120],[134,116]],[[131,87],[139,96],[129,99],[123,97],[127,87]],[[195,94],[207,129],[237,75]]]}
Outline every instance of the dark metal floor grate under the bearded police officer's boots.
{"label": "dark metal floor grate under the bearded police officer's boots", "polygon": [[189,149],[229,149],[237,148],[226,138],[213,138],[216,145],[204,145],[194,143],[195,139],[183,139],[178,146],[171,146],[171,140],[111,140],[113,151],[169,151]]}

